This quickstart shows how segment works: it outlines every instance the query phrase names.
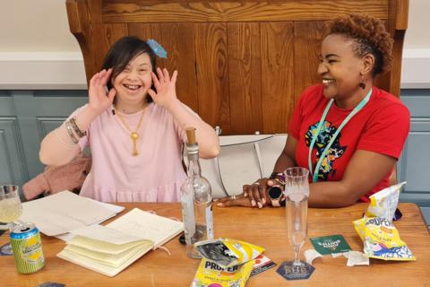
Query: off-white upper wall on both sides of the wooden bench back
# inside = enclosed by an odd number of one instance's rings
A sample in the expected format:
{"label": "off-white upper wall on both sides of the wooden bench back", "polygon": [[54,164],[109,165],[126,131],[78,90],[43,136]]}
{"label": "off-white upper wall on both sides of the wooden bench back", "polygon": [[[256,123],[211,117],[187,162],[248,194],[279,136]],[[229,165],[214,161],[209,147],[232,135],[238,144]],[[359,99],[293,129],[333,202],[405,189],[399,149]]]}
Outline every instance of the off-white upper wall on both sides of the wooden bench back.
{"label": "off-white upper wall on both sides of the wooden bench back", "polygon": [[[404,88],[430,87],[429,14],[430,0],[409,0]],[[81,50],[69,30],[64,0],[0,0],[0,39],[0,89],[57,89],[61,84],[64,89],[85,88]],[[30,71],[28,77],[11,73],[39,65],[40,71]]]}

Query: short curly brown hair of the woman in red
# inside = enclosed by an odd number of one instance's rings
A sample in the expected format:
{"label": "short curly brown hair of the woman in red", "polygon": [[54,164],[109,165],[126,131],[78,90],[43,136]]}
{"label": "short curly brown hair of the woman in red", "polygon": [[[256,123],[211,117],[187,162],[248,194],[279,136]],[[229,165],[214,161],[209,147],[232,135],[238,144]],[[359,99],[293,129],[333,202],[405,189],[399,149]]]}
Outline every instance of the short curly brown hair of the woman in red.
{"label": "short curly brown hair of the woman in red", "polygon": [[392,43],[390,34],[379,19],[359,14],[349,14],[326,23],[324,37],[341,34],[355,40],[354,52],[357,57],[374,55],[373,75],[391,70]]}

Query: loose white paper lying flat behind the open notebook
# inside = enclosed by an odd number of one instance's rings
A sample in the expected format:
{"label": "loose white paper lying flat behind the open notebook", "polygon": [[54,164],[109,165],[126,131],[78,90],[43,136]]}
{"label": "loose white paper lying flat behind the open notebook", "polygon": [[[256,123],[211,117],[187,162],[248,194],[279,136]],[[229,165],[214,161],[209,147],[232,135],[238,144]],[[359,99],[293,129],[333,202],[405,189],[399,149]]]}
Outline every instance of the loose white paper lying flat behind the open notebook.
{"label": "loose white paper lying flat behind the open notebook", "polygon": [[105,221],[116,213],[70,191],[22,204],[22,222],[33,222],[40,232],[54,236]]}

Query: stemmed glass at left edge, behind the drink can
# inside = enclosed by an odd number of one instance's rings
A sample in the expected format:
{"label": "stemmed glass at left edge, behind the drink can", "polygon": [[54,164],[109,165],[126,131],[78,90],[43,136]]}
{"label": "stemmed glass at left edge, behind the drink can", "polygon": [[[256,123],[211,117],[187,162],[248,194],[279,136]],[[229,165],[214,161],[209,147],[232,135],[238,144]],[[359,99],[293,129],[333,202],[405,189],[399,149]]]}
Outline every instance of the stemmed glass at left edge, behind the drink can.
{"label": "stemmed glass at left edge, behind the drink can", "polygon": [[[0,222],[8,223],[9,230],[12,232],[16,220],[22,214],[22,204],[17,186],[0,186]],[[10,249],[9,249],[10,248]],[[10,245],[2,250],[12,254]]]}

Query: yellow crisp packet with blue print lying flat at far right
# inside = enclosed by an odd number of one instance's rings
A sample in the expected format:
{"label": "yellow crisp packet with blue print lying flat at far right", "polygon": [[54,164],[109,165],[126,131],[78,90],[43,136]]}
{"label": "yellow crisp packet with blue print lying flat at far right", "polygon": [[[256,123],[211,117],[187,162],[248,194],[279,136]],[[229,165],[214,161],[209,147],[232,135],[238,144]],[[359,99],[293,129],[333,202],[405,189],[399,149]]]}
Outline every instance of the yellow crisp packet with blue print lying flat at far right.
{"label": "yellow crisp packet with blue print lying flat at far right", "polygon": [[366,257],[398,261],[416,260],[390,220],[373,217],[362,218],[353,223],[358,236],[364,242]]}

